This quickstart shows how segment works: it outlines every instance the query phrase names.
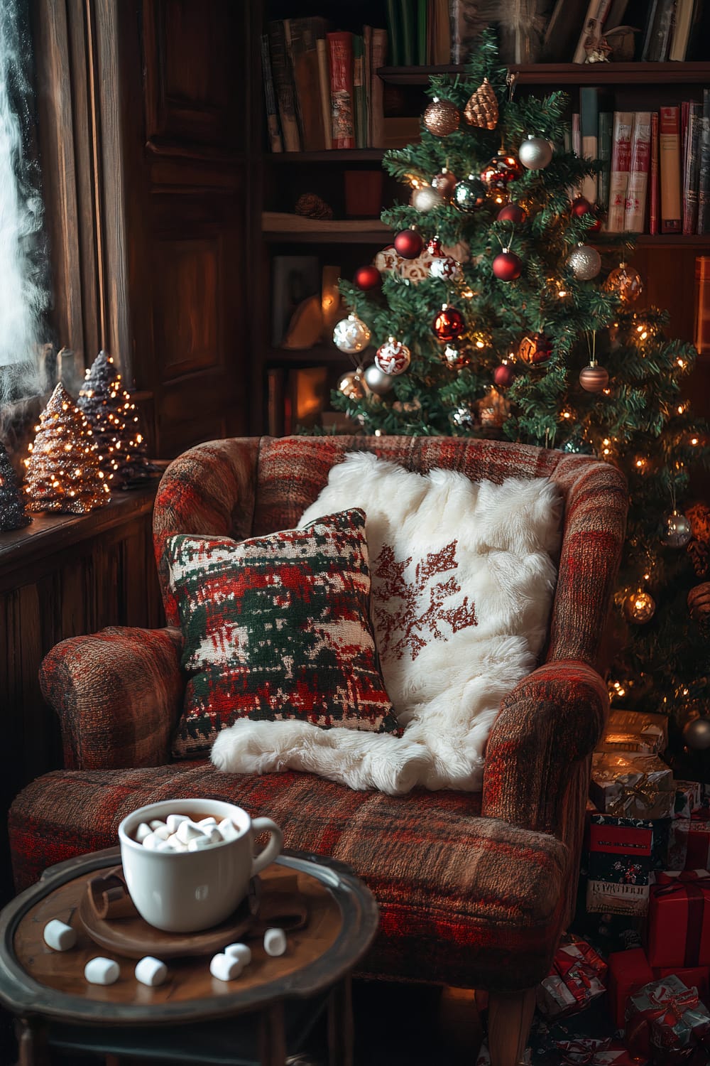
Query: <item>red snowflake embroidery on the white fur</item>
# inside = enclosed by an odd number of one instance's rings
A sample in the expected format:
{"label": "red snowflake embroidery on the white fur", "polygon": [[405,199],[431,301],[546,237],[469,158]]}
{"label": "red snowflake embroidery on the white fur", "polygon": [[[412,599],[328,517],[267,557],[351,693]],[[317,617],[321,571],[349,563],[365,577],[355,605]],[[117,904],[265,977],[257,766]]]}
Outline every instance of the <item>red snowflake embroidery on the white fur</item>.
{"label": "red snowflake embroidery on the white fur", "polygon": [[[431,584],[428,603],[425,602],[429,579],[456,569],[456,548],[457,542],[451,540],[441,551],[429,552],[416,564],[414,582],[408,582],[404,570],[412,556],[398,562],[392,547],[383,546],[374,564],[374,575],[379,580],[374,588],[375,621],[382,656],[401,659],[409,648],[412,659],[416,659],[429,641],[445,640],[446,633],[440,628],[442,623],[448,623],[455,633],[478,625],[476,605],[467,596],[453,607],[444,607],[446,599],[461,593],[455,574]],[[394,600],[399,600],[399,604]]]}

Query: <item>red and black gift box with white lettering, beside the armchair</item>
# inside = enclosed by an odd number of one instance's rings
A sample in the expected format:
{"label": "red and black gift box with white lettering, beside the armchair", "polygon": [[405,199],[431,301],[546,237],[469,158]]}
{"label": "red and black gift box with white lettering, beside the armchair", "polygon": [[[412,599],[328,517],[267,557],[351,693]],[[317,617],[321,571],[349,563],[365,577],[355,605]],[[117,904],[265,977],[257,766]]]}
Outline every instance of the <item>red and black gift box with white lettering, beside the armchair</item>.
{"label": "red and black gift box with white lettering, beside the armchair", "polygon": [[654,823],[589,814],[587,909],[590,914],[643,915],[653,881]]}

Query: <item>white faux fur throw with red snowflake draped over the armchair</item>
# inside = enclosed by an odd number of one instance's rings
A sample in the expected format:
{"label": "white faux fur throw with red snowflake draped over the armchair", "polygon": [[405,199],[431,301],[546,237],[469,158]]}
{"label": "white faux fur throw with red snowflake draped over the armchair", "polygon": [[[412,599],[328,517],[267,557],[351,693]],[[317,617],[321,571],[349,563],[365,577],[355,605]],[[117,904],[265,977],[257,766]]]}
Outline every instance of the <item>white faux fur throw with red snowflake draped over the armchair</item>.
{"label": "white faux fur throw with red snowflake draped over the armchair", "polygon": [[240,720],[212,761],[233,773],[310,771],[397,795],[478,791],[500,700],[535,666],[557,576],[562,501],[545,478],[472,482],[348,454],[299,522],[362,507],[382,675],[401,738]]}

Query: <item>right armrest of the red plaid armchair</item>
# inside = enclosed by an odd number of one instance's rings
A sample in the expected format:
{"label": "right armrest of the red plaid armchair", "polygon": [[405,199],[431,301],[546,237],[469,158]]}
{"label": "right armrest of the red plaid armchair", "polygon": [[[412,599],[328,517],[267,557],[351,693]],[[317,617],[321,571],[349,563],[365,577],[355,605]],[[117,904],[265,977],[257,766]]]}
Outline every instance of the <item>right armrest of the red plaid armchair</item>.
{"label": "right armrest of the red plaid armchair", "polygon": [[608,714],[606,683],[588,663],[558,659],[524,678],[503,699],[491,730],[483,814],[551,833],[575,851],[589,756]]}

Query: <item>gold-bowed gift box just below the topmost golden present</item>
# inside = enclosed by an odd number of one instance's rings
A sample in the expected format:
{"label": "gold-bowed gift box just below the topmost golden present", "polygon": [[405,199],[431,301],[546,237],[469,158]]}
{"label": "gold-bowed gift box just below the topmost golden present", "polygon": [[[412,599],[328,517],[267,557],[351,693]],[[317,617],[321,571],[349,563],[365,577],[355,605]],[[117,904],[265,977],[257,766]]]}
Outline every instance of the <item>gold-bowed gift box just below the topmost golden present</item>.
{"label": "gold-bowed gift box just below the topmost golden present", "polygon": [[656,755],[595,752],[590,798],[597,810],[617,818],[672,818],[673,771]]}

